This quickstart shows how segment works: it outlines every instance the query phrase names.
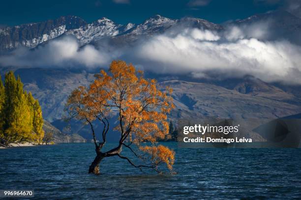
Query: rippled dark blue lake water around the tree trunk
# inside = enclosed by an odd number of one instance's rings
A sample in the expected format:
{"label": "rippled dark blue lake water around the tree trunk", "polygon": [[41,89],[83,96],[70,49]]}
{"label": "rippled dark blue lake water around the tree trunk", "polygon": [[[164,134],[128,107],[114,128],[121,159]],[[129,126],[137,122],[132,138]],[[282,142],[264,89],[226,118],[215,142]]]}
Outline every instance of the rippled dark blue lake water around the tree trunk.
{"label": "rippled dark blue lake water around the tree trunk", "polygon": [[1,149],[0,189],[34,189],[34,199],[301,199],[300,149],[165,145],[176,151],[176,175],[143,174],[118,157],[87,174],[93,144]]}

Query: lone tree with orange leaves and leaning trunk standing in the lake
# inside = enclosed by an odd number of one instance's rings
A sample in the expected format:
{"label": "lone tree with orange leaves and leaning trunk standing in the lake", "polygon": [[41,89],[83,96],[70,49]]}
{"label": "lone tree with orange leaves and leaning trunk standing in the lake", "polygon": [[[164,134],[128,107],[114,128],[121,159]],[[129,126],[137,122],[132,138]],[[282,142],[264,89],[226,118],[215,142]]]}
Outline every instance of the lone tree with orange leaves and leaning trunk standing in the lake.
{"label": "lone tree with orange leaves and leaning trunk standing in the lake", "polygon": [[[140,170],[151,168],[160,172],[158,166],[162,163],[172,170],[175,152],[157,145],[157,139],[165,138],[169,131],[166,114],[174,107],[170,96],[172,90],[167,88],[166,92],[161,92],[156,80],[143,78],[141,71],[124,61],[113,61],[108,74],[102,70],[95,77],[90,87],[75,89],[66,103],[71,118],[82,120],[91,128],[96,157],[89,173],[99,174],[100,161],[110,156],[125,159]],[[114,113],[118,115],[114,130],[120,132],[119,144],[103,151],[107,134],[110,134],[108,118]],[[101,142],[97,142],[94,132],[96,123],[103,125]],[[127,148],[143,164],[135,164],[122,155],[122,148]]]}

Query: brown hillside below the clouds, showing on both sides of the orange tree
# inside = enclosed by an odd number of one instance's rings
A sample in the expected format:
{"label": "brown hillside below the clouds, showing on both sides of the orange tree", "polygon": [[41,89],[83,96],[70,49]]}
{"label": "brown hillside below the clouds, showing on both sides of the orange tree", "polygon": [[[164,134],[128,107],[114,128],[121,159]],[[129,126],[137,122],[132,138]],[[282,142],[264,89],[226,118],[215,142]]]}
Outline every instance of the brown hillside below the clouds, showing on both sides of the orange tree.
{"label": "brown hillside below the clouds, showing on both sides of the orange tree", "polygon": [[[77,133],[90,139],[88,126],[71,122],[70,130],[61,121],[65,100],[79,85],[88,86],[93,74],[54,69],[18,69],[24,87],[40,101],[44,118],[64,134]],[[300,99],[291,93],[251,77],[237,81],[232,89],[213,83],[169,80],[160,82],[162,89],[174,89],[176,108],[169,116],[177,120],[192,116],[219,118],[278,118],[301,112]],[[227,84],[225,84],[227,85]],[[114,116],[112,116],[114,118]],[[99,127],[101,128],[101,127]],[[111,138],[114,140],[114,138]],[[62,139],[69,141],[69,139]]]}

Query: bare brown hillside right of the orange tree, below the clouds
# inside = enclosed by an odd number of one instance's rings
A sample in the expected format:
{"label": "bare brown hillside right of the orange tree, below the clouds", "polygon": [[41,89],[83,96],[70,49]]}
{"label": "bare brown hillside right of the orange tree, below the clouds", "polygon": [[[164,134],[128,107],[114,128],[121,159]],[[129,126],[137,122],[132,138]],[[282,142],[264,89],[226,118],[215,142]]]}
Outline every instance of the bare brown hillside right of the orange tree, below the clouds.
{"label": "bare brown hillside right of the orange tree, below the clouds", "polygon": [[[161,82],[162,88],[173,88],[176,109],[171,117],[189,118],[194,115],[219,118],[278,118],[301,111],[300,99],[270,86],[270,90],[260,95],[243,94],[237,90],[205,83],[180,80]],[[269,88],[269,87],[268,87]],[[271,92],[272,95],[269,95]],[[281,99],[277,99],[276,97]],[[287,101],[287,102],[286,102]],[[294,103],[292,103],[294,101]]]}

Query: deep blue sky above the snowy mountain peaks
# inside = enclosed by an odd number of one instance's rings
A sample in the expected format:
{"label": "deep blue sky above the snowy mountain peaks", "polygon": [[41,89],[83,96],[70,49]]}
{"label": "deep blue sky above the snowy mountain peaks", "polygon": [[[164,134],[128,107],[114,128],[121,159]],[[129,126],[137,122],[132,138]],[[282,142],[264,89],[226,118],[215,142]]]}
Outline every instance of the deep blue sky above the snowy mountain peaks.
{"label": "deep blue sky above the snowy mountain peaks", "polygon": [[282,6],[281,0],[7,0],[1,1],[0,25],[19,25],[76,15],[87,22],[107,17],[119,24],[141,23],[160,14],[190,16],[222,23]]}

